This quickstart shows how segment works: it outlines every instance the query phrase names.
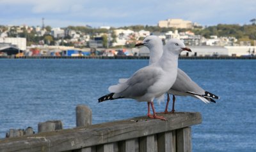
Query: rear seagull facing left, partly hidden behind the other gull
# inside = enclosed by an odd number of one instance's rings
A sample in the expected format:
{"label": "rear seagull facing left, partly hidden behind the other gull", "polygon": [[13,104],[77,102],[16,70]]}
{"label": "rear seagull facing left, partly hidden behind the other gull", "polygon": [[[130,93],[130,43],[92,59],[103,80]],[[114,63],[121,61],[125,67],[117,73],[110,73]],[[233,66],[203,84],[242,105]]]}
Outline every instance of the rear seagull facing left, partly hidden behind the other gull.
{"label": "rear seagull facing left, partly hidden behind the other gull", "polygon": [[[143,43],[138,43],[135,46],[146,46],[150,51],[150,60],[149,65],[154,64],[157,60],[160,59],[163,53],[163,42],[157,36],[147,36],[143,40]],[[125,79],[122,79],[124,81]],[[169,94],[173,95],[173,105],[171,113],[174,113],[174,104],[175,104],[175,95],[178,96],[191,96],[196,99],[200,99],[205,103],[214,102],[213,99],[220,99],[217,95],[214,95],[211,92],[205,91],[203,88],[198,86],[191,78],[189,78],[188,74],[186,74],[181,69],[177,69],[177,78],[172,88],[167,92],[167,103],[164,110],[164,113],[168,113],[168,104],[170,101]]]}

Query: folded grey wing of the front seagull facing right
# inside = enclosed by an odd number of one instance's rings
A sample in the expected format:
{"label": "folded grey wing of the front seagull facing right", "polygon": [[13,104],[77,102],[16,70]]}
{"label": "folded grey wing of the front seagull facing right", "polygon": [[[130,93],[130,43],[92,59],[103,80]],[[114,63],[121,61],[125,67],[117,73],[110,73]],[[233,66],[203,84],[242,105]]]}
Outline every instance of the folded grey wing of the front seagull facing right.
{"label": "folded grey wing of the front seagull facing right", "polygon": [[127,88],[118,95],[129,98],[145,95],[148,88],[156,83],[159,73],[160,70],[156,67],[147,67],[137,71],[131,78],[127,79],[125,82]]}

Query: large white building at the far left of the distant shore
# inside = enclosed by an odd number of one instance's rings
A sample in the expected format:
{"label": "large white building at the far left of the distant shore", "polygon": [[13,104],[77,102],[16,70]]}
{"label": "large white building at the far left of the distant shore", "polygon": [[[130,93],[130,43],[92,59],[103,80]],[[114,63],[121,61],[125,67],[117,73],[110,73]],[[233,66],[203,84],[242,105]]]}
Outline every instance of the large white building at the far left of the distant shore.
{"label": "large white building at the far left of the distant shore", "polygon": [[10,43],[16,45],[20,50],[26,50],[26,38],[0,38],[0,43]]}

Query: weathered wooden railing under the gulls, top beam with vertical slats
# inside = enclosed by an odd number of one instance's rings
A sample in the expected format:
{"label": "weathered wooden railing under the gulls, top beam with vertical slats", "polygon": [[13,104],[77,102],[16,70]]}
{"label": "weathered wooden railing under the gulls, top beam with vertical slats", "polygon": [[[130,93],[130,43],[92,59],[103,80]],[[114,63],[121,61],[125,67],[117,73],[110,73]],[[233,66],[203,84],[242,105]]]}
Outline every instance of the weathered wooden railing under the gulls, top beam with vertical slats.
{"label": "weathered wooden railing under the gulls, top beam with vertical slats", "polygon": [[160,114],[166,121],[140,116],[127,120],[41,132],[0,140],[0,152],[191,151],[191,126],[200,113]]}

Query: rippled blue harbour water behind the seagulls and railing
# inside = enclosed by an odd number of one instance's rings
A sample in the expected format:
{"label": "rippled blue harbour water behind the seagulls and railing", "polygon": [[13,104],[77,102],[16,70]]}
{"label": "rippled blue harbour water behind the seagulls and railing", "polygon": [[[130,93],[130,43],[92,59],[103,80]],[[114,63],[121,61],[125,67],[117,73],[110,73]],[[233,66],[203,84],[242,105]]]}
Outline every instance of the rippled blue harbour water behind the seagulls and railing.
{"label": "rippled blue harbour water behind the seagulls and railing", "polygon": [[[86,104],[93,123],[147,114],[145,102],[118,99],[98,103],[108,86],[147,66],[148,60],[0,60],[0,138],[9,128],[62,120],[76,126],[75,108]],[[256,151],[256,60],[180,60],[179,67],[205,90],[221,97],[204,104],[177,97],[177,111],[199,111],[192,127],[193,151]],[[164,104],[157,105],[163,111]]]}

